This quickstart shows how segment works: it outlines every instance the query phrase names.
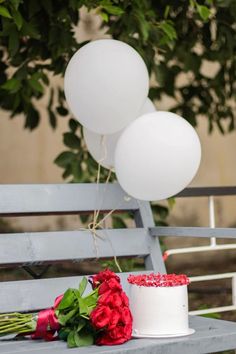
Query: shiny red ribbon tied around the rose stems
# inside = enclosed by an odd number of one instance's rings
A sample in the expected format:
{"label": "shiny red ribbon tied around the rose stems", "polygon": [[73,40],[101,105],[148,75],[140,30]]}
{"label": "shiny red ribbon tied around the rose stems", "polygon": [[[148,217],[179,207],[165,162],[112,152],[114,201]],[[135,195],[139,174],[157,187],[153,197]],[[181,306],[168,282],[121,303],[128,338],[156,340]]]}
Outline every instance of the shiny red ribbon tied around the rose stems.
{"label": "shiny red ribbon tied around the rose stems", "polygon": [[56,331],[60,328],[60,324],[55,315],[55,309],[60,304],[63,295],[55,299],[53,307],[42,310],[38,314],[38,320],[35,332],[31,335],[32,339],[41,339],[52,341],[57,338]]}

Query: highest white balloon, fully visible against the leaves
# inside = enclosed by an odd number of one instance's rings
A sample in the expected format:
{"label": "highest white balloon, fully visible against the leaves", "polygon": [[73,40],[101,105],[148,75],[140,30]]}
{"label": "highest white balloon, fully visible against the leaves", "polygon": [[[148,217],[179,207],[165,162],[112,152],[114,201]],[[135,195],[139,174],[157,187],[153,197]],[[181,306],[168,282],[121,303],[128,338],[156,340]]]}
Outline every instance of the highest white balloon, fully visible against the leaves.
{"label": "highest white balloon, fully visible against the leaves", "polygon": [[100,39],[79,49],[65,72],[65,96],[87,129],[112,134],[134,120],[149,87],[146,65],[128,44]]}

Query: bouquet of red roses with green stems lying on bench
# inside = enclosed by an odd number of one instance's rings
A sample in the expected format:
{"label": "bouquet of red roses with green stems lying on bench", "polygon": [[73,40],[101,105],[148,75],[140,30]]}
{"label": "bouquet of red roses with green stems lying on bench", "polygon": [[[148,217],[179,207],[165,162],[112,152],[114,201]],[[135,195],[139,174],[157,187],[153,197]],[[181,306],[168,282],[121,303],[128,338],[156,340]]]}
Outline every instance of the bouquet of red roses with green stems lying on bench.
{"label": "bouquet of red roses with green stems lying on bench", "polygon": [[68,347],[122,344],[131,338],[132,315],[120,278],[110,270],[91,276],[93,291],[84,296],[87,278],[69,288],[52,308],[38,313],[0,315],[0,336],[31,335],[32,339],[61,339]]}

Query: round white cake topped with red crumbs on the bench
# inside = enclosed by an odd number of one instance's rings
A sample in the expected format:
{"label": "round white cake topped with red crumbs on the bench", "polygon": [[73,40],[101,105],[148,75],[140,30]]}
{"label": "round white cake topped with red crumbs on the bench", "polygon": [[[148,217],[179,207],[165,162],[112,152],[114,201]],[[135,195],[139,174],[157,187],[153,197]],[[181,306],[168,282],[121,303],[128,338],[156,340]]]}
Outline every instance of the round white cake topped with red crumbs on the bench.
{"label": "round white cake topped with red crumbs on the bench", "polygon": [[133,336],[172,337],[194,332],[188,324],[186,276],[151,274],[130,276],[128,281]]}

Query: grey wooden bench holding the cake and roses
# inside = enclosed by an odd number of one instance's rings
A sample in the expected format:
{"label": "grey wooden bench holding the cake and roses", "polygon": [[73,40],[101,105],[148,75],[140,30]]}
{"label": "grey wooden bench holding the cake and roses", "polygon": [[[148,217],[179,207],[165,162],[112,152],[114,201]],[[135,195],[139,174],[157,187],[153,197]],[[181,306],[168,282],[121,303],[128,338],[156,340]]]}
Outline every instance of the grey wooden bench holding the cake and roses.
{"label": "grey wooden bench holding the cake and roses", "polygon": [[[94,209],[130,211],[135,228],[101,230],[97,239],[100,257],[142,256],[147,271],[165,272],[156,235],[181,234],[181,228],[154,227],[149,203],[126,198],[119,185],[58,184],[1,185],[0,216],[79,214]],[[168,232],[170,230],[170,232]],[[186,234],[186,232],[184,232]],[[209,237],[194,229],[195,236]],[[226,233],[227,234],[227,233]],[[104,237],[104,235],[106,237]],[[234,234],[236,235],[236,233]],[[227,236],[227,235],[226,235]],[[230,235],[232,237],[232,235]],[[112,245],[112,246],[111,246]],[[88,230],[33,232],[0,235],[0,264],[30,267],[34,264],[80,261],[96,258],[93,236]],[[128,291],[126,277],[121,275]],[[68,287],[77,287],[80,277],[2,282],[0,312],[32,311],[50,307]],[[190,316],[195,334],[175,339],[132,339],[121,346],[67,349],[61,341],[0,340],[0,353],[214,353],[236,348],[236,324]]]}

